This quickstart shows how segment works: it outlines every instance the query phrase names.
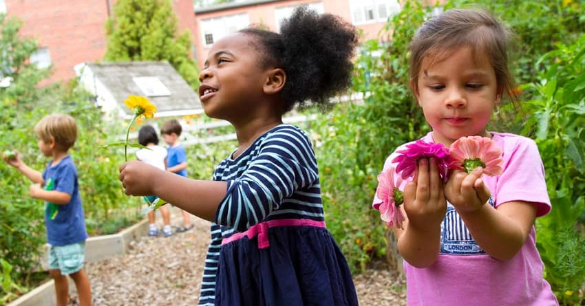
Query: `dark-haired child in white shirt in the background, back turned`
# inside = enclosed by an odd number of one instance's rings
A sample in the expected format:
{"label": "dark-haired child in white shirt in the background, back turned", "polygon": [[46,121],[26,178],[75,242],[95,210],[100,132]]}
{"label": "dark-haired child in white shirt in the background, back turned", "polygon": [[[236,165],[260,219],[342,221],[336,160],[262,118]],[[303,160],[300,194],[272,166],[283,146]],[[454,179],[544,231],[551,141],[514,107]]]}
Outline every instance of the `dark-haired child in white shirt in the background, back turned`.
{"label": "dark-haired child in white shirt in the background, back turned", "polygon": [[[136,151],[136,157],[138,160],[156,166],[156,168],[159,168],[160,170],[165,170],[167,168],[165,166],[167,149],[158,145],[158,135],[152,126],[145,125],[140,128],[140,131],[138,131],[138,143],[142,144],[142,146],[148,147],[148,149],[142,148]],[[158,199],[155,195],[147,195],[145,198],[148,199],[150,203],[153,203]],[[172,236],[173,230],[171,229],[171,217],[169,215],[168,206],[163,205],[158,208],[158,210],[160,210],[160,215],[162,215],[162,221],[164,223],[162,234],[164,237]],[[159,234],[155,220],[156,215],[154,214],[154,211],[150,211],[148,213],[148,235],[151,237],[156,237]]]}

